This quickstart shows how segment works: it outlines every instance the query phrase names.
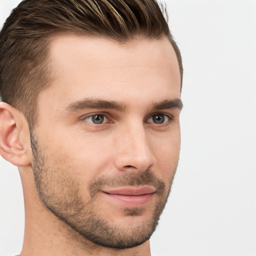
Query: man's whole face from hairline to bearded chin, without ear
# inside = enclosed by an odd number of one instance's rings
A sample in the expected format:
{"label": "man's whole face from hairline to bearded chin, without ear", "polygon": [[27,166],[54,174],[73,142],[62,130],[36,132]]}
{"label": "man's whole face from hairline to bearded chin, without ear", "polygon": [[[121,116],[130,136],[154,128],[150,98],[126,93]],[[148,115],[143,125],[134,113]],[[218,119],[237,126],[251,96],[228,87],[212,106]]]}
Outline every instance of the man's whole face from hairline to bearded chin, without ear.
{"label": "man's whole face from hairline to bearded chin, without ear", "polygon": [[46,208],[81,239],[132,247],[152,234],[180,147],[180,75],[166,38],[59,36],[38,97],[32,169]]}

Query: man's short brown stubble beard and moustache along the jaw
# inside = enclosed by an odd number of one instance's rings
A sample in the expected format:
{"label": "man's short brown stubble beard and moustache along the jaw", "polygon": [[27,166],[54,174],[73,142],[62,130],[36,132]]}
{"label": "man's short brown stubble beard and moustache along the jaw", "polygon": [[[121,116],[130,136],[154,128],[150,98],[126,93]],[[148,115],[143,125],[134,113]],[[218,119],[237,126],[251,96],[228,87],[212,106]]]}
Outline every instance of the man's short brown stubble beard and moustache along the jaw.
{"label": "man's short brown stubble beard and moustache along the jaw", "polygon": [[[46,157],[39,149],[37,140],[30,134],[33,161],[31,168],[38,197],[42,205],[83,238],[94,244],[109,248],[123,249],[138,246],[150,238],[154,232],[160,214],[166,204],[175,170],[167,185],[158,179],[150,170],[135,175],[123,173],[116,177],[101,176],[89,185],[90,198],[85,202],[79,192],[79,181],[73,176],[61,175],[68,173],[53,164],[47,165]],[[69,169],[69,168],[68,168]],[[95,209],[98,191],[103,185],[153,185],[156,188],[156,204],[151,218],[129,226],[109,223],[105,216]],[[141,207],[123,208],[124,216],[143,215]]]}

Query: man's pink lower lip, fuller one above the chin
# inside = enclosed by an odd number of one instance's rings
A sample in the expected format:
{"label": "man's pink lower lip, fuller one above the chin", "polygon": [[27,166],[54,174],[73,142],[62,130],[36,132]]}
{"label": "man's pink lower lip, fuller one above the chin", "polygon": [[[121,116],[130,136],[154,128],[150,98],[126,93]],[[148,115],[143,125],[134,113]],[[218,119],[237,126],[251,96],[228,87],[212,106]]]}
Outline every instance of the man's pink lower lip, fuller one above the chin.
{"label": "man's pink lower lip, fuller one above the chin", "polygon": [[125,205],[126,207],[139,207],[148,203],[153,193],[141,194],[141,195],[123,195],[123,194],[110,194],[103,192],[108,198],[115,200],[118,203]]}

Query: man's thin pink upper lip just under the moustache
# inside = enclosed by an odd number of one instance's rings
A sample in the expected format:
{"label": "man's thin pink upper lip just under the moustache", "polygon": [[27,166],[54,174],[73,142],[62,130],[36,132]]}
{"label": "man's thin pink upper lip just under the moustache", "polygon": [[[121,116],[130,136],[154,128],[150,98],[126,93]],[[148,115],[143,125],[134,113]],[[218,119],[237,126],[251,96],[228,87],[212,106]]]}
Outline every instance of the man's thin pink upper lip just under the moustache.
{"label": "man's thin pink upper lip just under the moustache", "polygon": [[155,188],[150,186],[126,186],[126,187],[117,187],[111,189],[102,189],[103,192],[109,194],[120,194],[120,195],[142,195],[142,194],[151,194],[155,192]]}

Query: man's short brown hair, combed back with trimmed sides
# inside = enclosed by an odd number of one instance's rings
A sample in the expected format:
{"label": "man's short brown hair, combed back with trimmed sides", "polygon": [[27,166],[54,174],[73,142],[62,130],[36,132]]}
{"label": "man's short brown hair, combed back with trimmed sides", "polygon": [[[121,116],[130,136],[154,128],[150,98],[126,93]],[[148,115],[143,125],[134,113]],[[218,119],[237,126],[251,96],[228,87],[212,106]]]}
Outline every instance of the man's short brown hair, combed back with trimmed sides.
{"label": "man's short brown hair, combed back with trimmed sides", "polygon": [[166,8],[156,0],[23,0],[0,32],[0,95],[22,111],[32,127],[36,99],[50,84],[49,39],[79,33],[126,42],[167,36],[180,69],[179,49],[167,24]]}

